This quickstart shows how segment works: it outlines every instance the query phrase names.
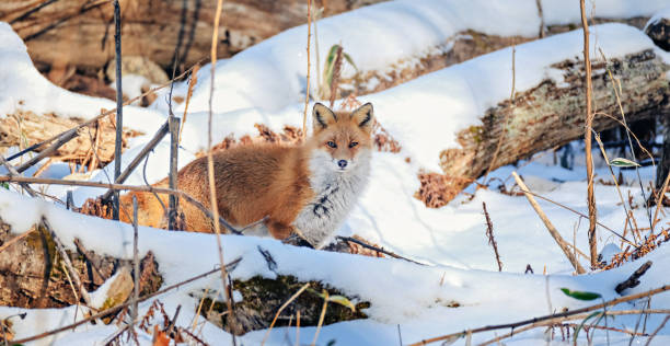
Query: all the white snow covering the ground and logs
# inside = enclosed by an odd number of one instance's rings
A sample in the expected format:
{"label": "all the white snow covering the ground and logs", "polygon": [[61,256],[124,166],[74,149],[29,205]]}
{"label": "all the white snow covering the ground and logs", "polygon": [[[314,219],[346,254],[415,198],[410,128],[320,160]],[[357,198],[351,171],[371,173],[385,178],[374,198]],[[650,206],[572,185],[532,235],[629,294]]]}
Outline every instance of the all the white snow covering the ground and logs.
{"label": "all the white snow covering the ground and logs", "polygon": [[[577,21],[579,13],[576,7],[566,8],[563,3],[543,1],[547,25]],[[596,11],[598,15],[609,18],[651,15],[663,3],[599,1]],[[322,47],[342,41],[360,69],[383,69],[390,62],[420,56],[425,49],[432,49],[466,28],[498,35],[533,36],[539,25],[540,19],[533,0],[498,4],[490,1],[390,1],[321,21],[319,39]],[[301,124],[300,101],[304,94],[307,65],[303,55],[304,31],[305,26],[289,30],[218,65],[213,128],[216,141],[229,134],[253,134],[255,123],[266,124],[273,129]],[[593,42],[610,58],[651,48],[670,62],[667,54],[655,48],[634,27],[600,25],[592,28],[592,35]],[[545,78],[561,82],[562,76],[555,73],[550,66],[581,55],[581,32],[576,31],[518,46],[516,64],[523,69],[518,70],[516,89],[523,91]],[[99,114],[100,108],[114,107],[108,101],[77,95],[50,84],[34,69],[19,37],[9,25],[1,23],[0,42],[3,43],[0,45],[0,78],[3,80],[0,84],[0,114],[27,109],[92,117]],[[11,86],[4,83],[8,80]],[[208,67],[200,70],[198,80],[184,128],[181,165],[190,161],[194,152],[206,145]],[[176,92],[184,93],[185,88],[184,83],[177,84]],[[320,334],[320,345],[331,339],[335,339],[336,345],[397,345],[398,328],[403,343],[407,344],[465,328],[524,320],[587,304],[563,295],[559,290],[562,287],[599,292],[604,299],[617,297],[614,286],[640,263],[626,264],[604,273],[573,276],[570,264],[524,197],[508,196],[497,189],[480,189],[472,199],[467,194],[462,194],[440,209],[428,209],[413,197],[418,189],[418,170],[438,171],[439,150],[453,147],[457,130],[476,124],[477,116],[505,100],[510,88],[511,50],[503,49],[382,93],[361,97],[361,101],[374,104],[379,120],[400,140],[403,151],[374,154],[370,185],[338,233],[361,235],[403,256],[425,263],[426,266],[401,260],[298,249],[269,239],[227,235],[223,237],[227,261],[238,256],[243,258],[232,273],[233,277],[290,274],[304,280],[332,284],[343,288],[349,296],[371,302],[371,308],[366,311],[370,319],[325,326]],[[132,106],[124,109],[126,126],[148,134],[131,141],[131,148],[123,155],[124,163],[127,163],[164,122],[166,112],[160,102],[151,109]],[[181,114],[182,111],[177,107],[175,113]],[[573,146],[578,153],[573,170],[555,164],[553,153],[545,152],[529,162],[522,162],[519,168],[498,169],[489,177],[505,181],[509,189],[513,184],[509,178],[510,173],[517,170],[532,191],[586,214],[584,151],[578,143]],[[166,158],[168,145],[163,142],[154,150],[147,165],[150,182],[166,175]],[[411,164],[405,161],[406,158],[412,159]],[[47,175],[61,177],[65,171],[63,166],[54,165]],[[111,175],[111,168],[105,171]],[[654,178],[654,171],[646,168],[640,173],[646,186]],[[610,180],[609,170],[602,162],[597,164],[597,174],[605,181]],[[642,205],[637,175],[634,171],[625,171],[623,174],[626,184],[622,193],[624,196],[631,193],[634,203]],[[105,172],[99,172],[92,180],[106,182],[107,177]],[[143,184],[141,170],[127,183]],[[65,188],[60,187],[50,186],[47,191],[58,196],[65,194]],[[474,193],[474,188],[470,187],[467,192]],[[100,191],[77,189],[76,203]],[[614,230],[623,230],[625,214],[615,187],[597,185],[596,199],[599,221]],[[505,273],[497,273],[493,250],[487,244],[483,201],[490,214]],[[586,252],[588,221],[555,205],[544,201],[540,204],[561,234]],[[636,208],[634,215],[640,227],[648,223],[644,208]],[[0,217],[13,226],[14,232],[25,231],[42,216],[50,221],[66,244],[79,238],[85,249],[96,253],[124,258],[131,256],[132,233],[127,224],[74,215],[59,205],[13,193],[0,193]],[[667,228],[669,222],[670,218],[666,217],[661,224]],[[211,269],[218,263],[215,244],[213,235],[210,234],[140,229],[140,255],[149,250],[155,254],[165,286]],[[621,242],[600,228],[599,249],[608,244],[619,246]],[[268,269],[257,246],[273,254],[278,264],[275,272]],[[666,246],[645,257],[654,261],[651,269],[643,277],[640,286],[626,293],[670,284],[666,270],[670,265],[670,247]],[[580,261],[587,266],[585,258],[580,257]],[[535,270],[534,275],[523,274],[529,264]],[[543,272],[548,275],[542,275]],[[188,293],[204,287],[216,290],[219,285],[220,279],[212,276],[159,299],[165,303],[168,311],[174,311],[181,304],[177,325],[189,325],[198,299]],[[447,307],[454,301],[461,307]],[[142,309],[146,311],[149,304],[142,304]],[[642,305],[638,302],[616,309],[640,309]],[[669,308],[670,295],[656,296],[651,307]],[[0,315],[22,311],[0,308]],[[73,319],[74,308],[33,310],[28,311],[24,321],[14,323],[14,328],[16,337],[21,338],[66,325]],[[655,328],[661,320],[662,316],[651,315],[647,320],[647,331]],[[637,316],[617,316],[614,321],[608,321],[611,326],[628,330],[633,330],[636,322]],[[100,344],[115,331],[113,326],[86,325],[74,333],[59,334],[55,344]],[[301,327],[302,344],[310,343],[314,332],[314,327]],[[499,331],[497,334],[507,332]],[[544,343],[542,332],[542,328],[538,328],[523,333],[506,341],[506,344],[538,345]],[[244,345],[257,345],[264,334],[265,331],[249,333],[240,341]],[[604,332],[596,335],[594,342],[599,345],[623,345],[629,338],[620,333],[610,333],[609,341]],[[211,345],[230,344],[230,336],[209,323],[203,324],[201,336]],[[292,345],[294,337],[294,328],[275,328],[266,345]],[[475,334],[473,341],[483,342],[490,337],[494,337],[493,332]],[[140,339],[149,344],[150,336],[141,335]],[[43,343],[51,341],[44,339]],[[558,336],[553,344],[562,344],[559,341]],[[663,328],[654,344],[668,343],[670,327]]]}

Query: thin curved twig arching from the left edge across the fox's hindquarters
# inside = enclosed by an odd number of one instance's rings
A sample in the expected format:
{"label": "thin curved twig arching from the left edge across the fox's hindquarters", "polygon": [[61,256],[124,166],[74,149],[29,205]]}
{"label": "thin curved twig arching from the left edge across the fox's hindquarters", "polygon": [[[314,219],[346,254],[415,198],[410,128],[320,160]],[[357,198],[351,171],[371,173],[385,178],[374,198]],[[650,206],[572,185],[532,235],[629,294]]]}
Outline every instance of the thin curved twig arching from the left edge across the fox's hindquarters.
{"label": "thin curved twig arching from the left edge across the fox's hindquarters", "polygon": [[[124,191],[135,191],[135,192],[143,192],[143,193],[177,195],[181,198],[184,198],[186,201],[193,204],[196,208],[200,209],[200,211],[203,211],[203,214],[205,214],[209,219],[211,219],[212,222],[215,220],[213,215],[211,214],[209,209],[207,209],[200,201],[193,198],[190,195],[186,194],[183,191],[174,191],[174,189],[163,188],[163,187],[153,187],[151,185],[134,186],[134,185],[123,185],[123,184],[95,183],[95,182],[86,182],[86,181],[66,181],[66,180],[58,180],[58,178],[7,176],[7,175],[0,175],[0,183],[1,182],[8,182],[8,183],[13,182],[13,183],[25,184],[25,186],[27,187],[30,187],[27,183],[30,184],[51,184],[51,185],[68,185],[68,186],[105,187],[105,188],[112,188],[112,189],[124,189]],[[232,233],[241,234],[238,229],[235,229],[232,224],[226,221],[222,217],[219,217],[219,223],[223,224],[223,227],[229,229]]]}

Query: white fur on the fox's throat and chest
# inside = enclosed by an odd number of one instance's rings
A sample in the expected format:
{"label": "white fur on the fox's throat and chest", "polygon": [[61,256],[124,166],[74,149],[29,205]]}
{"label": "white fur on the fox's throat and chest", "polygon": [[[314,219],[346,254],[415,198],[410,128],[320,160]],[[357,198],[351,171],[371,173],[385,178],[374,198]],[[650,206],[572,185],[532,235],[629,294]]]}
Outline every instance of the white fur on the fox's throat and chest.
{"label": "white fur on the fox's throat and chest", "polygon": [[293,226],[316,249],[325,245],[366,187],[370,173],[370,153],[360,153],[351,164],[350,170],[337,172],[333,169],[330,155],[324,158],[316,153],[310,160],[310,185],[315,197],[300,211]]}

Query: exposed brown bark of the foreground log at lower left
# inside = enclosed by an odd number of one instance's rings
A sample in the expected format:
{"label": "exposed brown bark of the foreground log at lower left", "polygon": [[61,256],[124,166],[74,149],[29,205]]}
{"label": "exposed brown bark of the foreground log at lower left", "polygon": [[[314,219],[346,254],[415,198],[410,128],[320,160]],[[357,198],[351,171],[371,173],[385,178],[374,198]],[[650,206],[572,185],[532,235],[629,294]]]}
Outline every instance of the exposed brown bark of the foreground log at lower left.
{"label": "exposed brown bark of the foreground log at lower left", "polygon": [[[130,264],[128,260],[95,254],[76,243],[78,251],[67,253],[88,291],[94,291],[118,268]],[[81,303],[78,301],[81,297],[76,296],[70,285],[70,274],[60,264],[56,245],[43,227],[16,235],[0,220],[0,305],[44,309]],[[140,273],[142,295],[160,288],[162,278],[151,253],[141,260]]]}

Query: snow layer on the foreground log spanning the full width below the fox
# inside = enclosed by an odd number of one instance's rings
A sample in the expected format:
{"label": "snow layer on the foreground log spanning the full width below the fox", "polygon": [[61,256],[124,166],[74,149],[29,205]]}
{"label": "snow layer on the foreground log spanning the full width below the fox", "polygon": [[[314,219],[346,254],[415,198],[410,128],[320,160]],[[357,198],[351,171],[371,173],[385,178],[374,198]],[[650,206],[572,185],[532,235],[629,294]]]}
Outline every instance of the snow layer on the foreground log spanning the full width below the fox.
{"label": "snow layer on the foreground log spanning the full width below the fox", "polygon": [[[16,215],[21,211],[21,218]],[[109,220],[72,214],[42,200],[31,199],[16,194],[0,192],[0,218],[12,226],[15,233],[25,232],[28,227],[42,217],[47,218],[60,240],[74,250],[72,241],[78,238],[82,245],[97,254],[107,254],[119,258],[130,258],[132,253],[132,229],[128,224]],[[510,218],[510,221],[513,220]],[[512,221],[513,222],[513,221]],[[207,272],[218,263],[218,252],[212,234],[194,234],[186,232],[166,232],[149,228],[139,230],[140,256],[152,251],[159,262],[159,269],[164,278],[164,287]],[[617,269],[590,276],[570,275],[523,275],[498,274],[493,272],[464,270],[450,266],[420,266],[401,260],[380,260],[373,257],[328,253],[284,245],[275,240],[252,237],[224,235],[223,249],[226,261],[242,257],[232,276],[246,279],[252,276],[274,278],[277,275],[292,275],[300,280],[320,280],[338,287],[348,296],[356,296],[361,301],[369,301],[371,307],[365,312],[369,321],[354,321],[326,326],[325,331],[356,330],[359,324],[376,324],[383,328],[403,325],[403,335],[412,338],[424,338],[450,331],[484,324],[509,322],[528,316],[543,315],[564,308],[575,309],[587,305],[566,297],[559,291],[562,287],[574,290],[588,290],[601,293],[604,299],[617,297],[614,286],[625,279],[638,263],[631,263]],[[500,243],[500,241],[499,241]],[[258,246],[268,251],[277,263],[275,270],[268,269]],[[655,265],[645,275],[643,285],[632,289],[640,292],[666,284],[663,270],[670,264],[670,247],[661,247],[644,261],[651,260]],[[353,270],[353,268],[356,268]],[[165,293],[160,297],[168,309],[182,304],[181,322],[187,324],[195,314],[197,298],[189,293],[205,287],[220,289],[220,279],[216,276]],[[548,297],[547,297],[548,295]],[[550,301],[547,305],[547,299]],[[151,302],[142,304],[147,309]],[[458,303],[460,308],[450,308]],[[667,307],[670,295],[654,298],[652,307]],[[513,307],[513,309],[510,309]],[[622,307],[627,308],[627,307]],[[32,335],[45,327],[66,325],[72,322],[71,308],[63,310],[24,310],[0,308],[0,315],[5,316],[27,311],[25,321],[16,322],[16,337]],[[58,319],[58,311],[62,314]],[[45,314],[48,323],[42,324]],[[79,318],[81,314],[79,314]],[[651,318],[656,323],[656,318]],[[444,321],[449,321],[444,330]],[[616,319],[616,323],[627,323],[634,319]],[[650,322],[651,323],[651,322]],[[210,326],[211,327],[211,326]],[[86,325],[77,330],[77,335],[90,339],[100,339],[104,333],[111,333],[106,326]],[[82,333],[85,332],[85,333]],[[226,333],[210,330],[210,333],[224,336]],[[301,331],[303,337],[312,331]],[[307,334],[307,335],[305,335]],[[347,335],[344,333],[343,335]],[[383,334],[383,333],[382,333]],[[490,336],[490,335],[488,335]],[[244,343],[256,344],[262,333],[251,333],[243,337]],[[475,339],[483,339],[477,335]],[[72,336],[68,337],[69,339]],[[217,339],[215,338],[215,339]],[[346,338],[346,336],[345,336]],[[213,342],[210,339],[210,342]],[[284,342],[280,333],[273,335],[272,345]],[[219,344],[219,343],[217,343]],[[223,343],[220,343],[223,345]],[[377,345],[373,341],[359,345]]]}

